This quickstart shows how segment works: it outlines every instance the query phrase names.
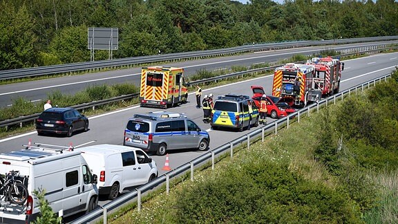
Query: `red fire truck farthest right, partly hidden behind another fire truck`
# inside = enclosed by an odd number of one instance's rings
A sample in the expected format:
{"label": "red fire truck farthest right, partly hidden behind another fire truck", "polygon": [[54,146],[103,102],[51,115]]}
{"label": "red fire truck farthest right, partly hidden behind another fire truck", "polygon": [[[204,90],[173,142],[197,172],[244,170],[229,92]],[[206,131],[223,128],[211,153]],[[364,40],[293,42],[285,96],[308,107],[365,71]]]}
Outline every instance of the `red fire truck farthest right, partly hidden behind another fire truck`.
{"label": "red fire truck farthest right, partly hidden behind another fire truck", "polygon": [[315,66],[312,88],[322,92],[322,95],[339,93],[341,71],[344,63],[332,57],[313,57],[307,64]]}

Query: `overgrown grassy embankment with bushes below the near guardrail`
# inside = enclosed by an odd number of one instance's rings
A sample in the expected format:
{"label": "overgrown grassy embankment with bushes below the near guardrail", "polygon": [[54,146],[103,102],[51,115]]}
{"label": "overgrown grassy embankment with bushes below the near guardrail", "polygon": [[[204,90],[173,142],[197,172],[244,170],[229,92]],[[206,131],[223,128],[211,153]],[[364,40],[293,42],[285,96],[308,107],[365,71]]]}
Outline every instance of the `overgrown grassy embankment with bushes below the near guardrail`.
{"label": "overgrown grassy embankment with bushes below the near guardrail", "polygon": [[109,222],[398,223],[397,95],[396,71]]}

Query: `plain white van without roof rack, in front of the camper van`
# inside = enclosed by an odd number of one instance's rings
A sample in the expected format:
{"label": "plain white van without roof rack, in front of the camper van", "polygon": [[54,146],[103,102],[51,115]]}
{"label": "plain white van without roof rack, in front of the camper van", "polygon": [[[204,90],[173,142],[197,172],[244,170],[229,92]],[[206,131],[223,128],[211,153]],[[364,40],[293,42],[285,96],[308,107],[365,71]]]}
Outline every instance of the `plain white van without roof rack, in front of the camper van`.
{"label": "plain white van without roof rack, in front of the camper van", "polygon": [[99,194],[113,200],[119,193],[143,185],[158,176],[156,162],[142,149],[116,144],[81,147],[93,174],[99,176]]}

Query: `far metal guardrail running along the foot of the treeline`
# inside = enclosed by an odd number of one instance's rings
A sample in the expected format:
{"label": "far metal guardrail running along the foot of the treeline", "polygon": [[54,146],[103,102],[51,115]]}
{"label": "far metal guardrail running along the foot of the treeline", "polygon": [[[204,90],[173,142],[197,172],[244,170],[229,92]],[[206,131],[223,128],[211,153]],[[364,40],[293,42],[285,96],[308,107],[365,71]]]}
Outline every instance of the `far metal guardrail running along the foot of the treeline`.
{"label": "far metal guardrail running along the foot of the treeline", "polygon": [[0,71],[0,80],[10,80],[21,77],[35,77],[40,75],[53,75],[59,73],[75,73],[83,71],[95,71],[101,68],[120,68],[138,64],[149,64],[154,62],[180,61],[182,59],[198,59],[204,57],[215,57],[222,55],[233,55],[236,53],[247,53],[260,50],[278,50],[286,48],[299,48],[305,46],[323,46],[330,44],[353,44],[367,41],[389,41],[398,40],[398,36],[386,37],[365,37],[352,39],[332,39],[323,41],[287,41],[276,43],[260,43],[238,46],[234,48],[224,48],[217,50],[201,50],[185,53],[172,53],[165,55],[149,55],[142,57],[128,57],[123,59],[111,59],[97,62],[79,62],[72,64],[61,64],[55,66],[41,66],[33,68],[19,68]]}

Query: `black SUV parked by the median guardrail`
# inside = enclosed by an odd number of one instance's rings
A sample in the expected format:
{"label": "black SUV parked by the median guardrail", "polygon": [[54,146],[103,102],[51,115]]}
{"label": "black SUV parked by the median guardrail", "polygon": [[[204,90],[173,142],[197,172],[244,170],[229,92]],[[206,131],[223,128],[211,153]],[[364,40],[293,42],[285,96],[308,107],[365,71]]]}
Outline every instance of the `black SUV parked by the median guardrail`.
{"label": "black SUV parked by the median guardrail", "polygon": [[36,131],[59,133],[72,136],[74,131],[88,131],[88,118],[71,108],[50,108],[43,111],[36,120]]}

